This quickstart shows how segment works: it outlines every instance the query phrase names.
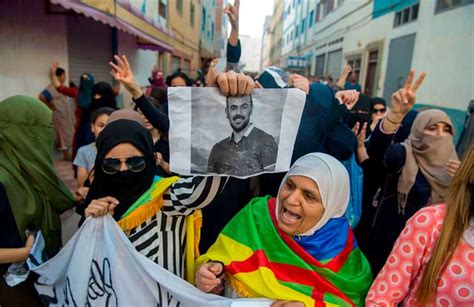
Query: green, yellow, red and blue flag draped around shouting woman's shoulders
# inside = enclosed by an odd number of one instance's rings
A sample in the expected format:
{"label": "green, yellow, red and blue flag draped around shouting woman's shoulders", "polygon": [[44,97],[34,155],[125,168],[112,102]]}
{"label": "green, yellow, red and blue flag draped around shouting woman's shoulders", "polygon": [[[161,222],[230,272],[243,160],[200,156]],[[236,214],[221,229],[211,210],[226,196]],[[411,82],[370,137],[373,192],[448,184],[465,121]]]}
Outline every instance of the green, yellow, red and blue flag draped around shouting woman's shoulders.
{"label": "green, yellow, red and blue flag draped around shouting woman's shoulders", "polygon": [[224,263],[227,286],[241,297],[300,301],[306,306],[363,305],[372,274],[350,227],[341,228],[345,233],[334,229],[342,248],[330,258],[317,260],[278,229],[275,207],[275,199],[254,199],[198,264]]}

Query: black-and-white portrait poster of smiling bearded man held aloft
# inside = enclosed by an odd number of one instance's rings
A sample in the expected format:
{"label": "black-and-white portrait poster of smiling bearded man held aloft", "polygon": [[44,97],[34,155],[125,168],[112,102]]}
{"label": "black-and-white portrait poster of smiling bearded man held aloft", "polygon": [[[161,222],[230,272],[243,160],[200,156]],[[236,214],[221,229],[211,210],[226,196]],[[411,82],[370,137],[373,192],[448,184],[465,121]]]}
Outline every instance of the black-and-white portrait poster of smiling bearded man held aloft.
{"label": "black-and-white portrait poster of smiling bearded man held aloft", "polygon": [[169,88],[170,167],[182,175],[246,178],[289,169],[306,95],[257,89]]}

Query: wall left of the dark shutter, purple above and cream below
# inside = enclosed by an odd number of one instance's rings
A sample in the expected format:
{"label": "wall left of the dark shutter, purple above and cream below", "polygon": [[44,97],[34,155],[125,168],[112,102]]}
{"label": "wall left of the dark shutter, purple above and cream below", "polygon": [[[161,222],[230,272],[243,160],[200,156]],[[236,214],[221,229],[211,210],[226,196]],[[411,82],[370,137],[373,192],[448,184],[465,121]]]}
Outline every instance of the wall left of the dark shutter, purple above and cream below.
{"label": "wall left of the dark shutter, purple above and cream below", "polygon": [[0,99],[38,94],[49,67],[68,70],[66,16],[46,15],[45,1],[0,1]]}

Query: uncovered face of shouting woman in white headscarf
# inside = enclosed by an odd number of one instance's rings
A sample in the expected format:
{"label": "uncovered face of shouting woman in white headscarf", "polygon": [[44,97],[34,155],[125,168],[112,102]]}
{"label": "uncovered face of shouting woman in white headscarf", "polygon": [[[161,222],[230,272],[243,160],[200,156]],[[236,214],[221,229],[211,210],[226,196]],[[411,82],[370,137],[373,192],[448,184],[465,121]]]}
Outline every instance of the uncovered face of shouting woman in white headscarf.
{"label": "uncovered face of shouting woman in white headscarf", "polygon": [[324,213],[319,188],[308,177],[289,176],[280,188],[278,197],[278,227],[289,235],[307,232]]}

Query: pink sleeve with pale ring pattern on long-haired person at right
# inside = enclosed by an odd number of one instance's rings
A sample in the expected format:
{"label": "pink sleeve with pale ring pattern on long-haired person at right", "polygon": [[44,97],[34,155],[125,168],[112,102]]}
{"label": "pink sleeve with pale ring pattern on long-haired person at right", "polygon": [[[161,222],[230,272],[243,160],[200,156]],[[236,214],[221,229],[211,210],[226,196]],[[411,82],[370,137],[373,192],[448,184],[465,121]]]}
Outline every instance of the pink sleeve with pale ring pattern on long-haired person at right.
{"label": "pink sleeve with pale ring pattern on long-haired person at right", "polygon": [[[398,237],[387,262],[370,287],[366,306],[397,306],[414,290],[414,281],[439,236],[435,207],[419,210]],[[441,219],[442,220],[442,219]],[[438,225],[437,225],[438,224]]]}

